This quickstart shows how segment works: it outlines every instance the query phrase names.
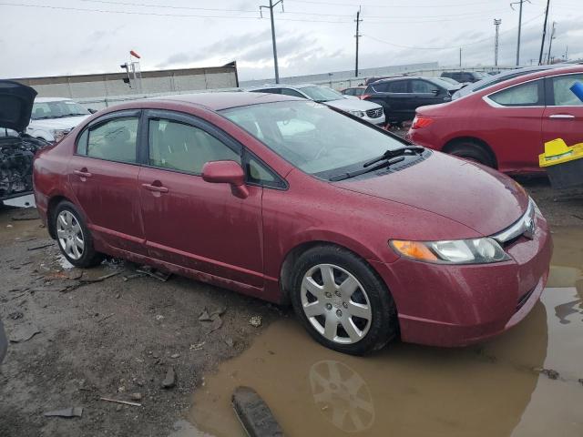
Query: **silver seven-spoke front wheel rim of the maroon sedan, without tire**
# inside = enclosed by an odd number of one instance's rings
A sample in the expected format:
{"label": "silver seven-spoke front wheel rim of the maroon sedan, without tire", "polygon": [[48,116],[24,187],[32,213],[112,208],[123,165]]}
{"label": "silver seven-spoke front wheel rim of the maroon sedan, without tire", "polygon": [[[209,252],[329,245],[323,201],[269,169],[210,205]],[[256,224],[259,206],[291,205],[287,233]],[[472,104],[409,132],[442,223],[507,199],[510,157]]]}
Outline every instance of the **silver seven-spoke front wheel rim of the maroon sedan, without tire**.
{"label": "silver seven-spoke front wheel rim of the maroon sedan, without tire", "polygon": [[349,271],[318,264],[302,279],[302,310],[313,328],[327,340],[353,344],[371,327],[373,311],[361,283]]}

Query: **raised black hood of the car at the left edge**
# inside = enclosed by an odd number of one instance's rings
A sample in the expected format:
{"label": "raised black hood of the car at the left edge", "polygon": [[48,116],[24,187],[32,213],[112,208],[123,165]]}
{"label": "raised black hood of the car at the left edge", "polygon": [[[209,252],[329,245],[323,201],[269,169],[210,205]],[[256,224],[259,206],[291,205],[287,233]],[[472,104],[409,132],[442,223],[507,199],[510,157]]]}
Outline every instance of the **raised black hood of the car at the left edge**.
{"label": "raised black hood of the car at the left edge", "polygon": [[0,127],[24,132],[33,110],[36,91],[12,80],[0,80]]}

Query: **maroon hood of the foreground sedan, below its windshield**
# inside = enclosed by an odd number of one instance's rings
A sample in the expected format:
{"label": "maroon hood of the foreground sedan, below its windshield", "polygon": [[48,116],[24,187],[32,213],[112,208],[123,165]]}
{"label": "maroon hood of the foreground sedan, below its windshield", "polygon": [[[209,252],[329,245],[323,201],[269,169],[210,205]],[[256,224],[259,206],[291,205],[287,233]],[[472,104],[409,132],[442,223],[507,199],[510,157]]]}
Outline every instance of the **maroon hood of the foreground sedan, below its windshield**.
{"label": "maroon hood of the foreground sedan, below its windshield", "polygon": [[525,190],[511,178],[435,151],[409,168],[334,185],[433,212],[483,236],[506,229],[528,206]]}

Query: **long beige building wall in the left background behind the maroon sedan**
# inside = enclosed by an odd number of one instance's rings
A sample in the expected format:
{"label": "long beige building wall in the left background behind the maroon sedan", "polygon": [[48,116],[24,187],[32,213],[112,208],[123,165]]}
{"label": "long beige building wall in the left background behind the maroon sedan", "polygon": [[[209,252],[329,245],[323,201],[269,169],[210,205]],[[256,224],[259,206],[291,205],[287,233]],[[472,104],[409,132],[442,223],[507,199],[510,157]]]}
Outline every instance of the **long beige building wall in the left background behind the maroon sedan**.
{"label": "long beige building wall in the left background behind the maroon sedan", "polygon": [[[236,66],[185,68],[142,72],[142,89],[123,82],[125,73],[105,73],[82,76],[22,77],[17,82],[32,86],[38,97],[114,97],[128,95],[157,95],[210,88],[237,86]],[[132,81],[133,82],[133,81]]]}

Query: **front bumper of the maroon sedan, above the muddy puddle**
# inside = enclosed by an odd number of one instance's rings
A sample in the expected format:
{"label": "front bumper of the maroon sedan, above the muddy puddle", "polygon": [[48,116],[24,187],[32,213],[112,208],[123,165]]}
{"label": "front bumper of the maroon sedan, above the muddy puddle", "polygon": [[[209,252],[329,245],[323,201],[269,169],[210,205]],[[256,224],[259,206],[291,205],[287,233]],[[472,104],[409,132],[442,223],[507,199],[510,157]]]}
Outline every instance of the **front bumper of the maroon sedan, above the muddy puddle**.
{"label": "front bumper of the maroon sedan, above the muddy puddle", "polygon": [[494,337],[523,320],[547,283],[552,240],[537,215],[533,239],[505,248],[512,260],[440,265],[398,259],[375,265],[391,290],[401,338],[434,346],[465,346]]}

